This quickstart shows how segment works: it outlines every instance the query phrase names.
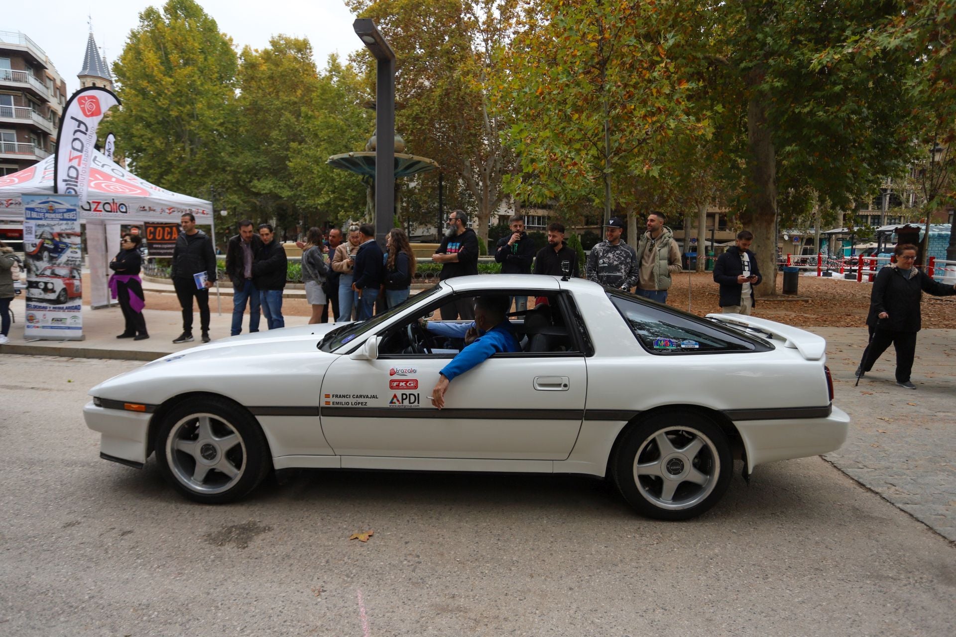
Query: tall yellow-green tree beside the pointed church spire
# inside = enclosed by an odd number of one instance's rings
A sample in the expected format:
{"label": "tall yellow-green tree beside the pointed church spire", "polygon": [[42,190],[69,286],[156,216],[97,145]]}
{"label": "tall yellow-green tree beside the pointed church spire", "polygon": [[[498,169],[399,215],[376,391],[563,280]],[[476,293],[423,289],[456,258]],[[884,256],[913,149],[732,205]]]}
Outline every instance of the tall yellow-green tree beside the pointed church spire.
{"label": "tall yellow-green tree beside the pointed church spire", "polygon": [[143,179],[191,195],[220,182],[236,54],[194,0],[141,11],[113,65],[117,152]]}

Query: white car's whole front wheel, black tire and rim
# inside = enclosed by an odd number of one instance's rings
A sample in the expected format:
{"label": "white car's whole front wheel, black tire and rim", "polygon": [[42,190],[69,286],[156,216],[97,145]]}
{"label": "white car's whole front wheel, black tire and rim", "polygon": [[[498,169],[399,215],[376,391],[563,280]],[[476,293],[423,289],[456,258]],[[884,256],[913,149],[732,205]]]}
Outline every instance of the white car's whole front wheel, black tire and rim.
{"label": "white car's whole front wheel, black tire and rim", "polygon": [[163,478],[186,498],[206,504],[244,498],[272,467],[259,423],[226,398],[176,405],[163,417],[155,449]]}

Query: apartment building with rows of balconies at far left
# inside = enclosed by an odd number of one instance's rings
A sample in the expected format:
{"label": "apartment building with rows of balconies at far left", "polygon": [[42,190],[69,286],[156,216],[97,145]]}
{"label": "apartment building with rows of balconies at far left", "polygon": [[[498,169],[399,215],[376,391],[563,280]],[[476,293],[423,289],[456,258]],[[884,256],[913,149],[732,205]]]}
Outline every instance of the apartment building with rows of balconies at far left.
{"label": "apartment building with rows of balconies at far left", "polygon": [[54,152],[66,83],[21,32],[0,31],[0,177]]}

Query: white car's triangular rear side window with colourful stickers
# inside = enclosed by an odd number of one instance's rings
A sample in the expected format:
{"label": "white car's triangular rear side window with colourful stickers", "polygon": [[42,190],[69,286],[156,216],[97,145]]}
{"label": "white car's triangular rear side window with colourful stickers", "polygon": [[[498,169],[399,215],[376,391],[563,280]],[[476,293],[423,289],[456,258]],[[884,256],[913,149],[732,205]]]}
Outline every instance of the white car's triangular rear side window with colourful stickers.
{"label": "white car's triangular rear side window with colourful stickers", "polygon": [[766,350],[743,334],[720,329],[685,312],[669,311],[635,298],[609,294],[611,303],[645,350],[652,354],[695,354]]}

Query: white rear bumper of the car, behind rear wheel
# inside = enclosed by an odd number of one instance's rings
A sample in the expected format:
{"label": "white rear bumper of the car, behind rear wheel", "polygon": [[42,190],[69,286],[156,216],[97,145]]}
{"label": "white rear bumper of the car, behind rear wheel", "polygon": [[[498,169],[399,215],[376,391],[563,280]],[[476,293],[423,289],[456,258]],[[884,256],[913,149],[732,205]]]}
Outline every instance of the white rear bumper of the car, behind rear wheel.
{"label": "white rear bumper of the car, behind rear wheel", "polygon": [[825,418],[741,420],[733,424],[744,439],[750,472],[764,462],[836,451],[846,442],[850,416],[834,407]]}

